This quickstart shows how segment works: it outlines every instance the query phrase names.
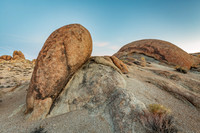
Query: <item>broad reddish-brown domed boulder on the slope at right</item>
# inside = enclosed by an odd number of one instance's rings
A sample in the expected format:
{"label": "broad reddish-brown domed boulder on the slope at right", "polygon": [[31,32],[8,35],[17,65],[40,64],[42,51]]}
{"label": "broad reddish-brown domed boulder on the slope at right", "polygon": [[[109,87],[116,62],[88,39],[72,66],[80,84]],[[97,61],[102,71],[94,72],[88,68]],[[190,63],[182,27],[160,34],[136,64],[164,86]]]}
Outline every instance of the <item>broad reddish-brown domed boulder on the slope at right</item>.
{"label": "broad reddish-brown domed boulder on the slope at right", "polygon": [[123,46],[114,56],[120,58],[132,53],[144,54],[185,69],[190,69],[193,65],[193,59],[188,53],[172,43],[162,40],[146,39],[135,41]]}

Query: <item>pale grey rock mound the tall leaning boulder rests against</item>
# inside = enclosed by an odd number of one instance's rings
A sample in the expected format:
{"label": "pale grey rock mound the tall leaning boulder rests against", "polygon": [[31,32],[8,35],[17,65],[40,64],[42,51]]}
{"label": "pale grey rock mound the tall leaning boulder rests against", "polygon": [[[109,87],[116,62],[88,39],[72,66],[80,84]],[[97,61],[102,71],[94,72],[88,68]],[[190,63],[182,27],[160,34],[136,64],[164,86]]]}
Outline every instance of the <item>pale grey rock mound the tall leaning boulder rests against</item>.
{"label": "pale grey rock mound the tall leaning boulder rests against", "polygon": [[68,82],[48,117],[86,110],[106,121],[110,132],[144,132],[137,115],[145,106],[125,89],[122,74],[112,64],[105,57],[90,58]]}

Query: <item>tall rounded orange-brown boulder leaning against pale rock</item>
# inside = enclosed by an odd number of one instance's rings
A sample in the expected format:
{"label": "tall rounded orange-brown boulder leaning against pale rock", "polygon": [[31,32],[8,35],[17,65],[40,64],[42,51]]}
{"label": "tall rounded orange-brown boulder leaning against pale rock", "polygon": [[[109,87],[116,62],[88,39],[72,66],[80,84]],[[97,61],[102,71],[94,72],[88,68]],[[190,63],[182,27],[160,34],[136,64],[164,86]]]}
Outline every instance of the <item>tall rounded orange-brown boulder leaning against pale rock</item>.
{"label": "tall rounded orange-brown boulder leaning against pale rock", "polygon": [[[38,100],[49,107],[74,72],[89,59],[91,52],[92,39],[83,26],[71,24],[54,31],[36,60],[26,98],[26,113],[37,112],[36,106],[40,105],[35,102],[39,103]],[[47,98],[51,100],[45,100]]]}

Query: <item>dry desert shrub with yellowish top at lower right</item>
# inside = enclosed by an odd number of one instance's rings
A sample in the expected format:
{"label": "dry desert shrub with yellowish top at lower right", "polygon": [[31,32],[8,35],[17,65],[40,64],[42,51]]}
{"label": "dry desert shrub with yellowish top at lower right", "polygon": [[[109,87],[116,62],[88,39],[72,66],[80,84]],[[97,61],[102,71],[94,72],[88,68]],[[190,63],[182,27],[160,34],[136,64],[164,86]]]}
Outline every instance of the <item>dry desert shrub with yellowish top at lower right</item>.
{"label": "dry desert shrub with yellowish top at lower right", "polygon": [[149,133],[177,133],[170,110],[160,104],[150,104],[141,116],[141,122]]}

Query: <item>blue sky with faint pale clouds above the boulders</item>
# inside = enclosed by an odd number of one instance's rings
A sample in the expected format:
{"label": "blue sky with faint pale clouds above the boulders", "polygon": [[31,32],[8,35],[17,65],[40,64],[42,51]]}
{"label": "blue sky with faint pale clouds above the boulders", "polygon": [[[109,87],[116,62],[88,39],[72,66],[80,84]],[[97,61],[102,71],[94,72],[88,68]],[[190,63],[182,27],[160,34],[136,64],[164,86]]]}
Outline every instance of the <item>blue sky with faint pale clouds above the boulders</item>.
{"label": "blue sky with faint pale clouds above the boulders", "polygon": [[200,0],[1,0],[0,20],[0,55],[36,58],[54,30],[72,23],[90,31],[92,55],[140,39],[200,52]]}

